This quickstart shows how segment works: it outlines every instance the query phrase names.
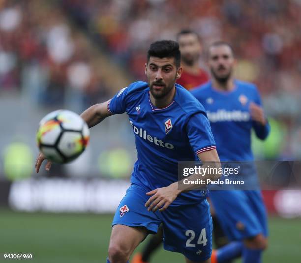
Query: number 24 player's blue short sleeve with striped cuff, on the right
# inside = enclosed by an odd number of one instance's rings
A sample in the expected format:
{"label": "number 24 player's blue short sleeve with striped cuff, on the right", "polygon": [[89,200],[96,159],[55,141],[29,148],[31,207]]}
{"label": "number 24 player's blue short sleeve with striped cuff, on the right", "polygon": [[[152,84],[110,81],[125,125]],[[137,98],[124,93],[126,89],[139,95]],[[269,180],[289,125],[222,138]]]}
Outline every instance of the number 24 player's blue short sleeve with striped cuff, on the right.
{"label": "number 24 player's blue short sleeve with striped cuff, on the right", "polygon": [[216,149],[210,123],[205,113],[197,113],[190,117],[187,123],[187,135],[193,151],[199,153]]}

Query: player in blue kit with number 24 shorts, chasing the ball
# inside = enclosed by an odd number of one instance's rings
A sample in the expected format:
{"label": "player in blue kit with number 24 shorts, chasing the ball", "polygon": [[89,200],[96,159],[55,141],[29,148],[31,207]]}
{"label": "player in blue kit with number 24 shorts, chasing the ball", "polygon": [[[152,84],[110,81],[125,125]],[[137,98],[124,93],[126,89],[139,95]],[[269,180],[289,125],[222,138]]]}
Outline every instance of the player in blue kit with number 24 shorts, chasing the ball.
{"label": "player in blue kit with number 24 shorts, chasing the ball", "polygon": [[[180,252],[186,263],[210,263],[212,219],[207,191],[178,189],[178,161],[216,161],[210,124],[203,106],[178,84],[179,44],[151,44],[145,74],[148,83],[135,82],[111,100],[96,104],[81,116],[92,127],[106,117],[127,112],[136,139],[138,160],[131,186],[112,223],[108,263],[126,263],[138,244],[163,223],[164,248]],[[45,157],[39,154],[36,171]],[[46,170],[51,163],[46,164]],[[220,167],[220,166],[219,166]],[[206,174],[205,180],[218,179]],[[198,220],[195,220],[198,218]]]}

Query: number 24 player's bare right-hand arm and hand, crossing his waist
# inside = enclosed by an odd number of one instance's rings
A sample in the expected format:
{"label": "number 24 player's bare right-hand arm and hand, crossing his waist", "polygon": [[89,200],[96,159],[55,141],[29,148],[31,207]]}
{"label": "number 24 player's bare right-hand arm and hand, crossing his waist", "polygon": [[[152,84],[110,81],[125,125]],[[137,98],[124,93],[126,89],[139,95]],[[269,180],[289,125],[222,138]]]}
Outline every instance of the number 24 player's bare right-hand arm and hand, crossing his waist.
{"label": "number 24 player's bare right-hand arm and hand, crossing his waist", "polygon": [[[216,149],[202,152],[198,154],[198,157],[203,163],[211,162],[210,165],[212,165],[212,167],[214,166],[214,168],[217,168],[216,170],[218,170],[218,168],[221,167]],[[199,175],[197,174],[191,176],[192,177],[195,176],[196,179],[199,178],[198,177]],[[218,173],[216,174],[211,173],[211,174],[205,174],[203,178],[205,179],[205,181],[207,181],[207,179],[211,179],[214,181],[219,179],[220,176],[221,175]],[[189,190],[192,190],[191,186],[187,186],[187,191]],[[155,212],[159,209],[159,211],[162,212],[166,210],[167,207],[177,198],[177,196],[184,191],[185,190],[178,189],[178,182],[172,183],[166,187],[154,189],[146,193],[148,196],[151,197],[145,203],[145,206],[148,207],[148,211],[152,210],[153,212]]]}

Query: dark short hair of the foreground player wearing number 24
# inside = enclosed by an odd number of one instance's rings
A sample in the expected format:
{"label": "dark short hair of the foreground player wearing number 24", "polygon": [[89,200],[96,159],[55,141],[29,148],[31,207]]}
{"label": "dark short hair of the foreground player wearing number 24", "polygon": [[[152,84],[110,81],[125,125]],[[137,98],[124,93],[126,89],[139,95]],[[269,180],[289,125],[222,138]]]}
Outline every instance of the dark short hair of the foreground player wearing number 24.
{"label": "dark short hair of the foreground player wearing number 24", "polygon": [[176,67],[180,67],[181,53],[179,50],[179,44],[173,40],[161,40],[153,42],[148,50],[147,61],[150,57],[157,58],[174,58]]}

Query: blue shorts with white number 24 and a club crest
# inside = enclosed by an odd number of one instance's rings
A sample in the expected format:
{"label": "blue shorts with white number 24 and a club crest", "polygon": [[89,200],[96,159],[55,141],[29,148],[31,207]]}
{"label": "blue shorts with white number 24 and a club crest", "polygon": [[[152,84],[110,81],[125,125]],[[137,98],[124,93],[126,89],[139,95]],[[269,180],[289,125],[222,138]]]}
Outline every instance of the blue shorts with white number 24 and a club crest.
{"label": "blue shorts with white number 24 and a club crest", "polygon": [[148,211],[146,191],[132,184],[121,200],[112,226],[143,226],[157,233],[163,224],[164,249],[182,253],[191,261],[205,261],[212,253],[212,218],[205,199],[193,205],[169,206],[163,212]]}

